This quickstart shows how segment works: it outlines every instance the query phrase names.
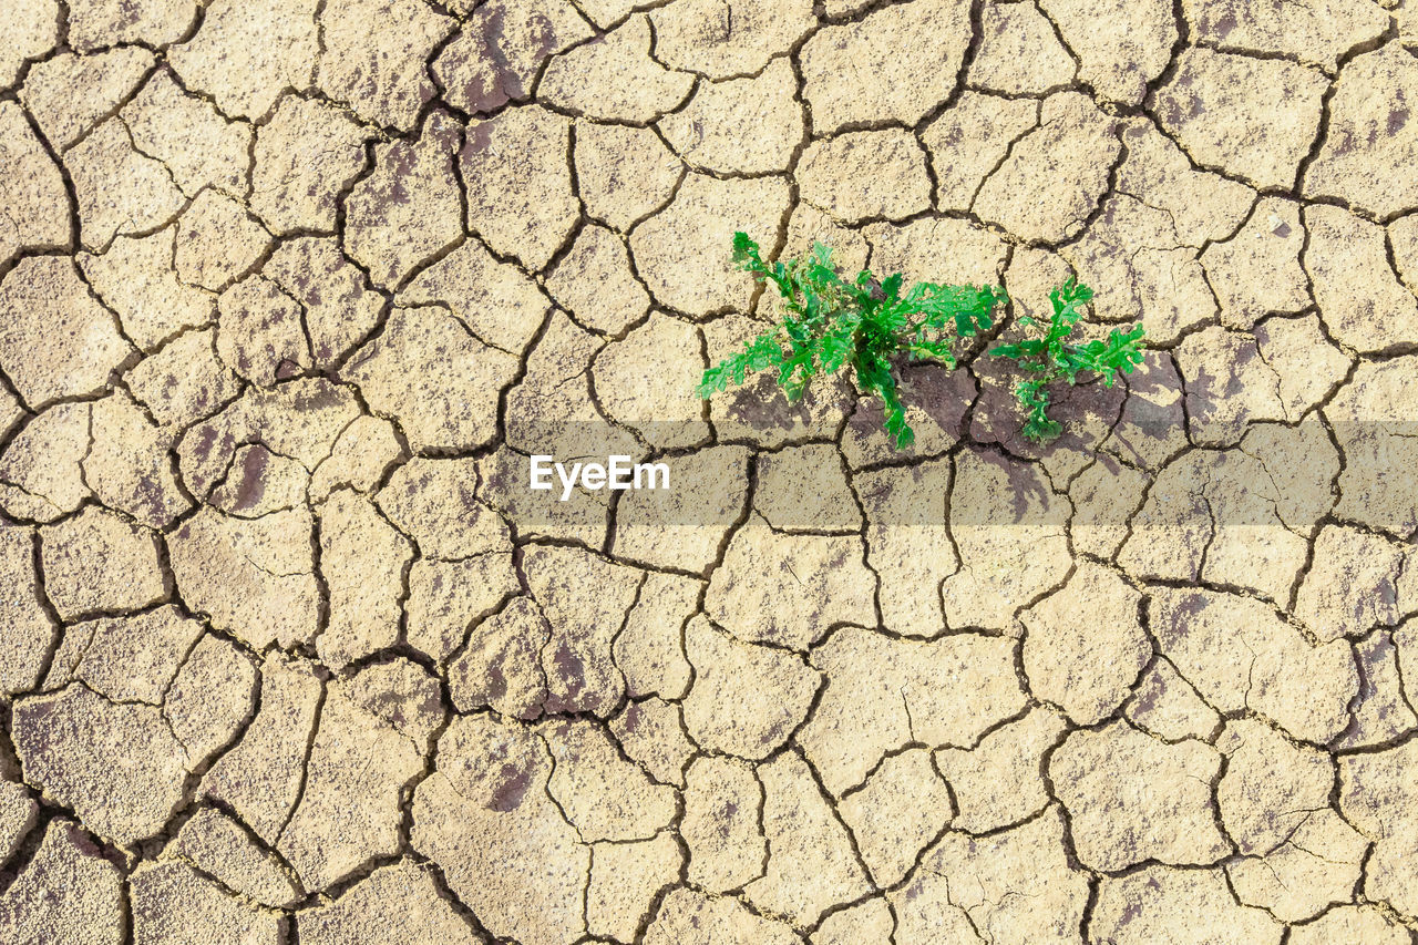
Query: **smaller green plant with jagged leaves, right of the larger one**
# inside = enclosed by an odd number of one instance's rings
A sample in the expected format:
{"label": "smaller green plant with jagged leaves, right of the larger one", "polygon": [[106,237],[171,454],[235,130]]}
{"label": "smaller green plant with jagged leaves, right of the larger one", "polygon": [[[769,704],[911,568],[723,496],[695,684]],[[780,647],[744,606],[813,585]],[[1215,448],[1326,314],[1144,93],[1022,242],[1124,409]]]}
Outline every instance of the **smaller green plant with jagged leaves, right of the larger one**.
{"label": "smaller green plant with jagged leaves, right of the larger one", "polygon": [[[1105,387],[1112,387],[1117,372],[1130,375],[1141,363],[1143,353],[1139,348],[1143,338],[1141,325],[1127,332],[1115,328],[1107,341],[1090,341],[1082,345],[1066,341],[1082,318],[1079,306],[1092,298],[1093,289],[1071,278],[1049,292],[1054,318],[1049,319],[1044,338],[990,349],[991,355],[1017,360],[1020,368],[1031,375],[1014,387],[1014,396],[1027,414],[1024,436],[1031,440],[1039,443],[1052,440],[1064,430],[1059,421],[1048,414],[1051,383],[1066,377],[1073,385],[1078,383],[1081,372],[1092,372],[1102,376]],[[1032,328],[1038,322],[1025,315],[1020,318],[1020,324]]]}

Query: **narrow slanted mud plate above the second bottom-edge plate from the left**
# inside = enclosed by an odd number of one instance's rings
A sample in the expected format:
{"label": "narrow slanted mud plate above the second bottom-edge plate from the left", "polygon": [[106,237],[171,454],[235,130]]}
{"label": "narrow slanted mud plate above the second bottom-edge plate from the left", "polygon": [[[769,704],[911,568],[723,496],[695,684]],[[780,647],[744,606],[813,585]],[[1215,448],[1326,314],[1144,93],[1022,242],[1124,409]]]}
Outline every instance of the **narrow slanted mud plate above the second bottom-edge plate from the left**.
{"label": "narrow slanted mud plate above the second bottom-edge plate from the left", "polygon": [[214,807],[197,810],[163,849],[163,858],[186,860],[223,885],[272,908],[291,908],[302,898],[279,858]]}

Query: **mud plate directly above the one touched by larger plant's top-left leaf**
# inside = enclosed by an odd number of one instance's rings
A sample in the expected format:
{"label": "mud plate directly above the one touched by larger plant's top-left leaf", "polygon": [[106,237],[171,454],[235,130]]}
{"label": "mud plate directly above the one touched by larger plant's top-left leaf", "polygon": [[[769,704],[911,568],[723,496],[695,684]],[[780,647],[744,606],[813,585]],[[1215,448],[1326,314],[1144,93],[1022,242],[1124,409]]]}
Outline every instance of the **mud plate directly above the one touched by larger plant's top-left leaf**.
{"label": "mud plate directly above the one touched by larger plant's top-left leaf", "polygon": [[659,119],[659,131],[692,167],[718,173],[788,170],[805,119],[787,57],[754,78],[702,82],[689,105]]}

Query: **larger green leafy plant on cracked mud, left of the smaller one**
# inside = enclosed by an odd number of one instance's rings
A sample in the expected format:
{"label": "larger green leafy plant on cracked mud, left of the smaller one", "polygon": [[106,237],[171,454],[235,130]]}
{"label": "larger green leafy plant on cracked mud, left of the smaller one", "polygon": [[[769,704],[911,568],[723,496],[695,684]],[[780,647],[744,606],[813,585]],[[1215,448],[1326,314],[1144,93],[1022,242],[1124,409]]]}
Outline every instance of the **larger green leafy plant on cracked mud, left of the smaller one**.
{"label": "larger green leafy plant on cracked mud, left of the smaller one", "polygon": [[882,399],[885,427],[896,448],[915,440],[898,394],[893,360],[956,366],[951,345],[988,329],[991,312],[1008,301],[998,287],[917,282],[902,292],[900,272],[878,282],[869,271],[851,282],[832,268],[832,251],[817,243],[807,258],[769,265],[746,233],[733,234],[735,264],[783,298],[783,321],[744,349],[705,372],[700,397],[742,385],[749,373],[776,369],[790,402],[818,375],[851,366],[862,390]]}

